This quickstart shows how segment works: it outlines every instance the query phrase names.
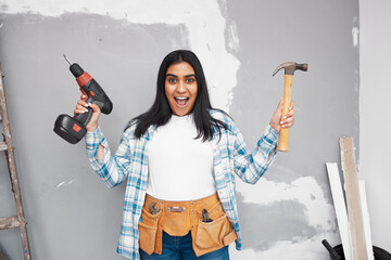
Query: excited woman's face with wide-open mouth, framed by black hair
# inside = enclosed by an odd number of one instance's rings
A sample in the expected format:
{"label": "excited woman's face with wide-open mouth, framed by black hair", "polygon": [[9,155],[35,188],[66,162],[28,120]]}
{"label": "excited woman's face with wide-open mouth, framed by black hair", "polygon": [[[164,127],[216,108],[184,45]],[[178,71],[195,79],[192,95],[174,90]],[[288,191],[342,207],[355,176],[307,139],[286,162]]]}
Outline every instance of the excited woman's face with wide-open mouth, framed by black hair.
{"label": "excited woman's face with wide-open mouth, framed by black hair", "polygon": [[194,106],[197,92],[195,73],[189,63],[174,63],[167,68],[165,94],[174,115],[188,115]]}

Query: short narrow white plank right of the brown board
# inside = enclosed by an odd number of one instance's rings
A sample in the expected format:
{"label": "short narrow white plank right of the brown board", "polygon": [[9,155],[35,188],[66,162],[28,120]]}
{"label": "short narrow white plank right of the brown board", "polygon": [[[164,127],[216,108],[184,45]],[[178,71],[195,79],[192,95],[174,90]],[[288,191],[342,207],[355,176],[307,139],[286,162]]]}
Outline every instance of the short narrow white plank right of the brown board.
{"label": "short narrow white plank right of the brown board", "polygon": [[365,247],[367,251],[368,260],[375,260],[374,256],[374,247],[371,243],[371,234],[370,234],[370,220],[369,220],[369,210],[368,203],[366,199],[366,191],[365,191],[365,181],[358,180],[358,191],[360,191],[360,203],[362,206],[362,214],[363,214],[363,224],[364,224],[364,238],[365,238]]}

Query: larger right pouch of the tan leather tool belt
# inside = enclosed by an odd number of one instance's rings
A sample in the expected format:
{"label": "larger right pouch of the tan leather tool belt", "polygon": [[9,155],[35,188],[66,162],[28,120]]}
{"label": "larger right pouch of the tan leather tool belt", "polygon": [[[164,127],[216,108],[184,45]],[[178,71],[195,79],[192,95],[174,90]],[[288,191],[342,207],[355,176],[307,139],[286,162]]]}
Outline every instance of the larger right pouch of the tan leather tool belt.
{"label": "larger right pouch of the tan leather tool belt", "polygon": [[199,256],[217,250],[237,239],[236,231],[231,227],[220,203],[207,209],[212,222],[203,222],[202,212],[193,238],[194,251]]}

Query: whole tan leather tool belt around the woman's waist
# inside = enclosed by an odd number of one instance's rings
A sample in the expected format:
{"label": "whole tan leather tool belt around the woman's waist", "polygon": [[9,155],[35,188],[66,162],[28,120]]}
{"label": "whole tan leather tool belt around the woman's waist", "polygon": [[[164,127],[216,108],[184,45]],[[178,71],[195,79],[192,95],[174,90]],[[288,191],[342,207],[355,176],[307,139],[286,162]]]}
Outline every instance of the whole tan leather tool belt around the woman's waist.
{"label": "whole tan leather tool belt around the woman's waist", "polygon": [[[206,209],[211,222],[203,221],[203,209]],[[149,255],[162,253],[163,231],[172,236],[185,236],[191,231],[197,256],[217,250],[237,239],[217,193],[189,202],[160,200],[147,194],[141,220],[138,226],[139,244]]]}

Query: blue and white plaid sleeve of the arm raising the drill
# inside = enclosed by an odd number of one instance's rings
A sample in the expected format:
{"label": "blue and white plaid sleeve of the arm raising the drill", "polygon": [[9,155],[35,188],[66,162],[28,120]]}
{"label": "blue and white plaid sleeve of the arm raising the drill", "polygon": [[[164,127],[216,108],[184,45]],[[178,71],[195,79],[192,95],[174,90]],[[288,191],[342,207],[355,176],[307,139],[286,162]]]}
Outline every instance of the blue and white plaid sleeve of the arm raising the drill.
{"label": "blue and white plaid sleeve of the arm raising the drill", "polygon": [[[87,132],[86,134],[87,156],[92,169],[110,187],[116,186],[126,180],[127,168],[130,165],[129,136],[128,129],[123,133],[119,146],[115,155],[113,155],[99,127],[94,132]],[[101,161],[97,158],[100,145],[104,147],[103,159]]]}

